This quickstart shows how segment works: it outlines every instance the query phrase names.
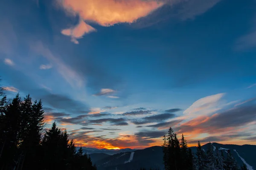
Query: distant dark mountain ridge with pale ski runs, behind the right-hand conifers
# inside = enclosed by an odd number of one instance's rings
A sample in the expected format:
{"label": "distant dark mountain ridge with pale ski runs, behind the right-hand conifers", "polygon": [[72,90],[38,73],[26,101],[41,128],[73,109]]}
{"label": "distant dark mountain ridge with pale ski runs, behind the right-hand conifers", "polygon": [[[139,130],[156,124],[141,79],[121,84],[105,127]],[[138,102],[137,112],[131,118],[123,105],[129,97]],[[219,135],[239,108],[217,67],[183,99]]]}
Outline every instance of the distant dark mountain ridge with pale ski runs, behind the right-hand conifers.
{"label": "distant dark mountain ridge with pale ski runs, behind the right-hand conifers", "polygon": [[[203,145],[202,148],[207,150],[208,144]],[[219,150],[222,149],[225,157],[227,156],[226,151],[229,149],[240,166],[245,163],[248,170],[256,170],[256,145],[212,144],[214,150],[217,148]],[[196,153],[196,147],[190,148],[193,153]],[[90,155],[93,164],[96,163],[98,170],[140,170],[141,167],[146,169],[164,169],[163,151],[160,146],[128,152],[122,151],[122,153],[114,155],[106,155],[105,153],[97,153],[97,155],[92,153]]]}

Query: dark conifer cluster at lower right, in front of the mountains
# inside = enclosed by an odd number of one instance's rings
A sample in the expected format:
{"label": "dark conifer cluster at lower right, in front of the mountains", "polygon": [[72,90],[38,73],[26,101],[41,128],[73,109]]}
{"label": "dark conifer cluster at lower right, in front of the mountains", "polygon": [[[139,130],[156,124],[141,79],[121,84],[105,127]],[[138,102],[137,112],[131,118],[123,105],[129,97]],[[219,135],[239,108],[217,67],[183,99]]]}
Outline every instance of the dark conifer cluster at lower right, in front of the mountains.
{"label": "dark conifer cluster at lower right, in front of the mountains", "polygon": [[225,158],[222,150],[214,149],[212,143],[208,144],[205,152],[198,141],[197,153],[194,155],[183,134],[179,141],[172,127],[169,128],[168,135],[163,136],[163,141],[163,162],[166,170],[247,170],[245,164],[238,166],[230,150]]}

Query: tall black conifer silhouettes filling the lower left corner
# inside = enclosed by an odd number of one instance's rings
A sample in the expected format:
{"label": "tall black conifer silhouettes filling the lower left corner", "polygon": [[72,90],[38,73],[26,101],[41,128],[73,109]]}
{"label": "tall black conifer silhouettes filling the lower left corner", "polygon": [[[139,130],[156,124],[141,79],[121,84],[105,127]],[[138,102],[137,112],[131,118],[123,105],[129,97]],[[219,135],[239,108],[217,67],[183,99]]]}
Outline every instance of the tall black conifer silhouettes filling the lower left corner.
{"label": "tall black conifer silhouettes filling the lower left corner", "polygon": [[96,170],[68,137],[56,123],[44,130],[41,100],[7,100],[0,88],[0,170]]}

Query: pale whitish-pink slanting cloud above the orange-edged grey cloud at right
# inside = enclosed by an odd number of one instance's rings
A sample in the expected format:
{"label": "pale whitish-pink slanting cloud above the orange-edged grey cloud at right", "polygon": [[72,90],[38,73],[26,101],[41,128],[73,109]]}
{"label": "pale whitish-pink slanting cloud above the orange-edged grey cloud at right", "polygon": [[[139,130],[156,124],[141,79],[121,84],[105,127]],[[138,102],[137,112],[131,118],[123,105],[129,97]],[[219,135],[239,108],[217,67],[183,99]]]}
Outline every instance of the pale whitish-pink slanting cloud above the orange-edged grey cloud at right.
{"label": "pale whitish-pink slanting cloud above the orange-edged grey cloud at right", "polygon": [[195,101],[189,108],[184,111],[187,116],[196,116],[201,114],[209,114],[218,111],[219,100],[224,96],[224,93],[206,96]]}

